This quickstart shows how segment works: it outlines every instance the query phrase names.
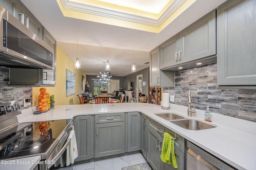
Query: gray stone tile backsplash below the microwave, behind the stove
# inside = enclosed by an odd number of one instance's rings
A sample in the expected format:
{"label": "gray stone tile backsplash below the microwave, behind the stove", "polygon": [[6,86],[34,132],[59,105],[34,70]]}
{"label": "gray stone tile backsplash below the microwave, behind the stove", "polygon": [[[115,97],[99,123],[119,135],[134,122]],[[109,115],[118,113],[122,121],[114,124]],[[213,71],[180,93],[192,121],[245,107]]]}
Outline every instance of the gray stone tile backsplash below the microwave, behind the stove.
{"label": "gray stone tile backsplash below the microwave, behind the stove", "polygon": [[[32,100],[32,87],[14,87],[8,86],[10,70],[9,68],[0,67],[0,102],[18,100],[21,108],[24,108],[25,98]],[[31,107],[27,106],[28,107]]]}

